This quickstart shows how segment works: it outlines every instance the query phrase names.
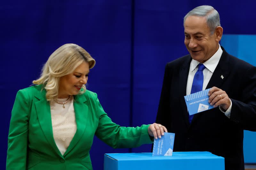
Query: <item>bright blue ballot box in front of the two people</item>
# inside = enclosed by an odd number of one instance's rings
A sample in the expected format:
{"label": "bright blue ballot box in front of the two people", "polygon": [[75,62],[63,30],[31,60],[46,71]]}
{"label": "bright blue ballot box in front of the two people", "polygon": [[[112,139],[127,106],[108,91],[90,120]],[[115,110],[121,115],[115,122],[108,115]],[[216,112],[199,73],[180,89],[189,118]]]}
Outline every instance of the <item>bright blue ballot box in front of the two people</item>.
{"label": "bright blue ballot box in front of the two people", "polygon": [[224,158],[211,152],[173,152],[172,156],[152,153],[106,153],[104,170],[224,170]]}

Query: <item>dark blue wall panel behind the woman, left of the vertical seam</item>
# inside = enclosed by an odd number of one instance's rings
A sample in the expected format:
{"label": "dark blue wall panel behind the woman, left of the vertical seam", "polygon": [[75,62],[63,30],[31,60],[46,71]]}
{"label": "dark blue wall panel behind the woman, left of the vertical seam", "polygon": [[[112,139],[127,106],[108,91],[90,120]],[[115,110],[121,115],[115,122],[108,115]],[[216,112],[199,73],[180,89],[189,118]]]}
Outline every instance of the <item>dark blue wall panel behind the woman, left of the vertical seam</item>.
{"label": "dark blue wall panel behind the woman, left of the vertical seam", "polygon": [[[95,59],[88,89],[98,93],[106,113],[130,125],[131,1],[1,2],[1,141],[0,169],[5,169],[8,127],[16,92],[38,78],[43,63],[65,43],[76,43]],[[113,95],[114,94],[114,95]],[[86,144],[85,144],[86,145]],[[114,150],[97,137],[91,150],[94,169]]]}

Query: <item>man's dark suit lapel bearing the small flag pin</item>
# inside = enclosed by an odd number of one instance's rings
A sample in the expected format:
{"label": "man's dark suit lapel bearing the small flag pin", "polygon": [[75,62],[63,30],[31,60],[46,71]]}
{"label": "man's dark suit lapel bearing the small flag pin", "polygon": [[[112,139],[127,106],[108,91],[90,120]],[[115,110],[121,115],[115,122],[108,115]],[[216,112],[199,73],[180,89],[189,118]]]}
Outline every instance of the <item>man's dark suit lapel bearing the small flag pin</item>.
{"label": "man's dark suit lapel bearing the small flag pin", "polygon": [[[220,61],[214,70],[212,77],[206,86],[206,89],[212,88],[213,86],[221,89],[222,83],[228,78],[229,75],[229,54],[225,51],[223,47],[221,47],[223,53],[220,57]],[[196,122],[196,120],[202,115],[204,112],[197,113],[194,115],[191,124]]]}

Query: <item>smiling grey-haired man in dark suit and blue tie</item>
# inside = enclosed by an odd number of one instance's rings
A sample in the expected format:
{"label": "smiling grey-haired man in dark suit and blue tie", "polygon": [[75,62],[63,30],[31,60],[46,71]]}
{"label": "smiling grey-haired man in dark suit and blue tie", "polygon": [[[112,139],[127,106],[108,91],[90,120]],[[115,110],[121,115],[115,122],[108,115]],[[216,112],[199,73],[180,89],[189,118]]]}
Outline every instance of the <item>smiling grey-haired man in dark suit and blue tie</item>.
{"label": "smiling grey-haired man in dark suit and blue tie", "polygon": [[[226,170],[244,170],[243,132],[256,131],[256,68],[220,47],[223,28],[212,6],[188,12],[184,33],[190,55],[167,63],[156,122],[175,133],[174,152],[212,152],[225,158]],[[184,96],[208,88],[216,108],[189,116]]]}

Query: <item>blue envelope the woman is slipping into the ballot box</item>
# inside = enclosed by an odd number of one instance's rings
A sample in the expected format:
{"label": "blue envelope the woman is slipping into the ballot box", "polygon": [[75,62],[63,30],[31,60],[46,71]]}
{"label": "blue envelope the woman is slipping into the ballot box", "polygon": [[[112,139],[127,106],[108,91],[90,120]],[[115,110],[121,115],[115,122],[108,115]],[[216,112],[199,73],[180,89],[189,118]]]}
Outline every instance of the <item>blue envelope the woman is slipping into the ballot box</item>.
{"label": "blue envelope the woman is slipping into the ballot box", "polygon": [[164,136],[154,140],[152,156],[172,156],[174,133],[164,132]]}

